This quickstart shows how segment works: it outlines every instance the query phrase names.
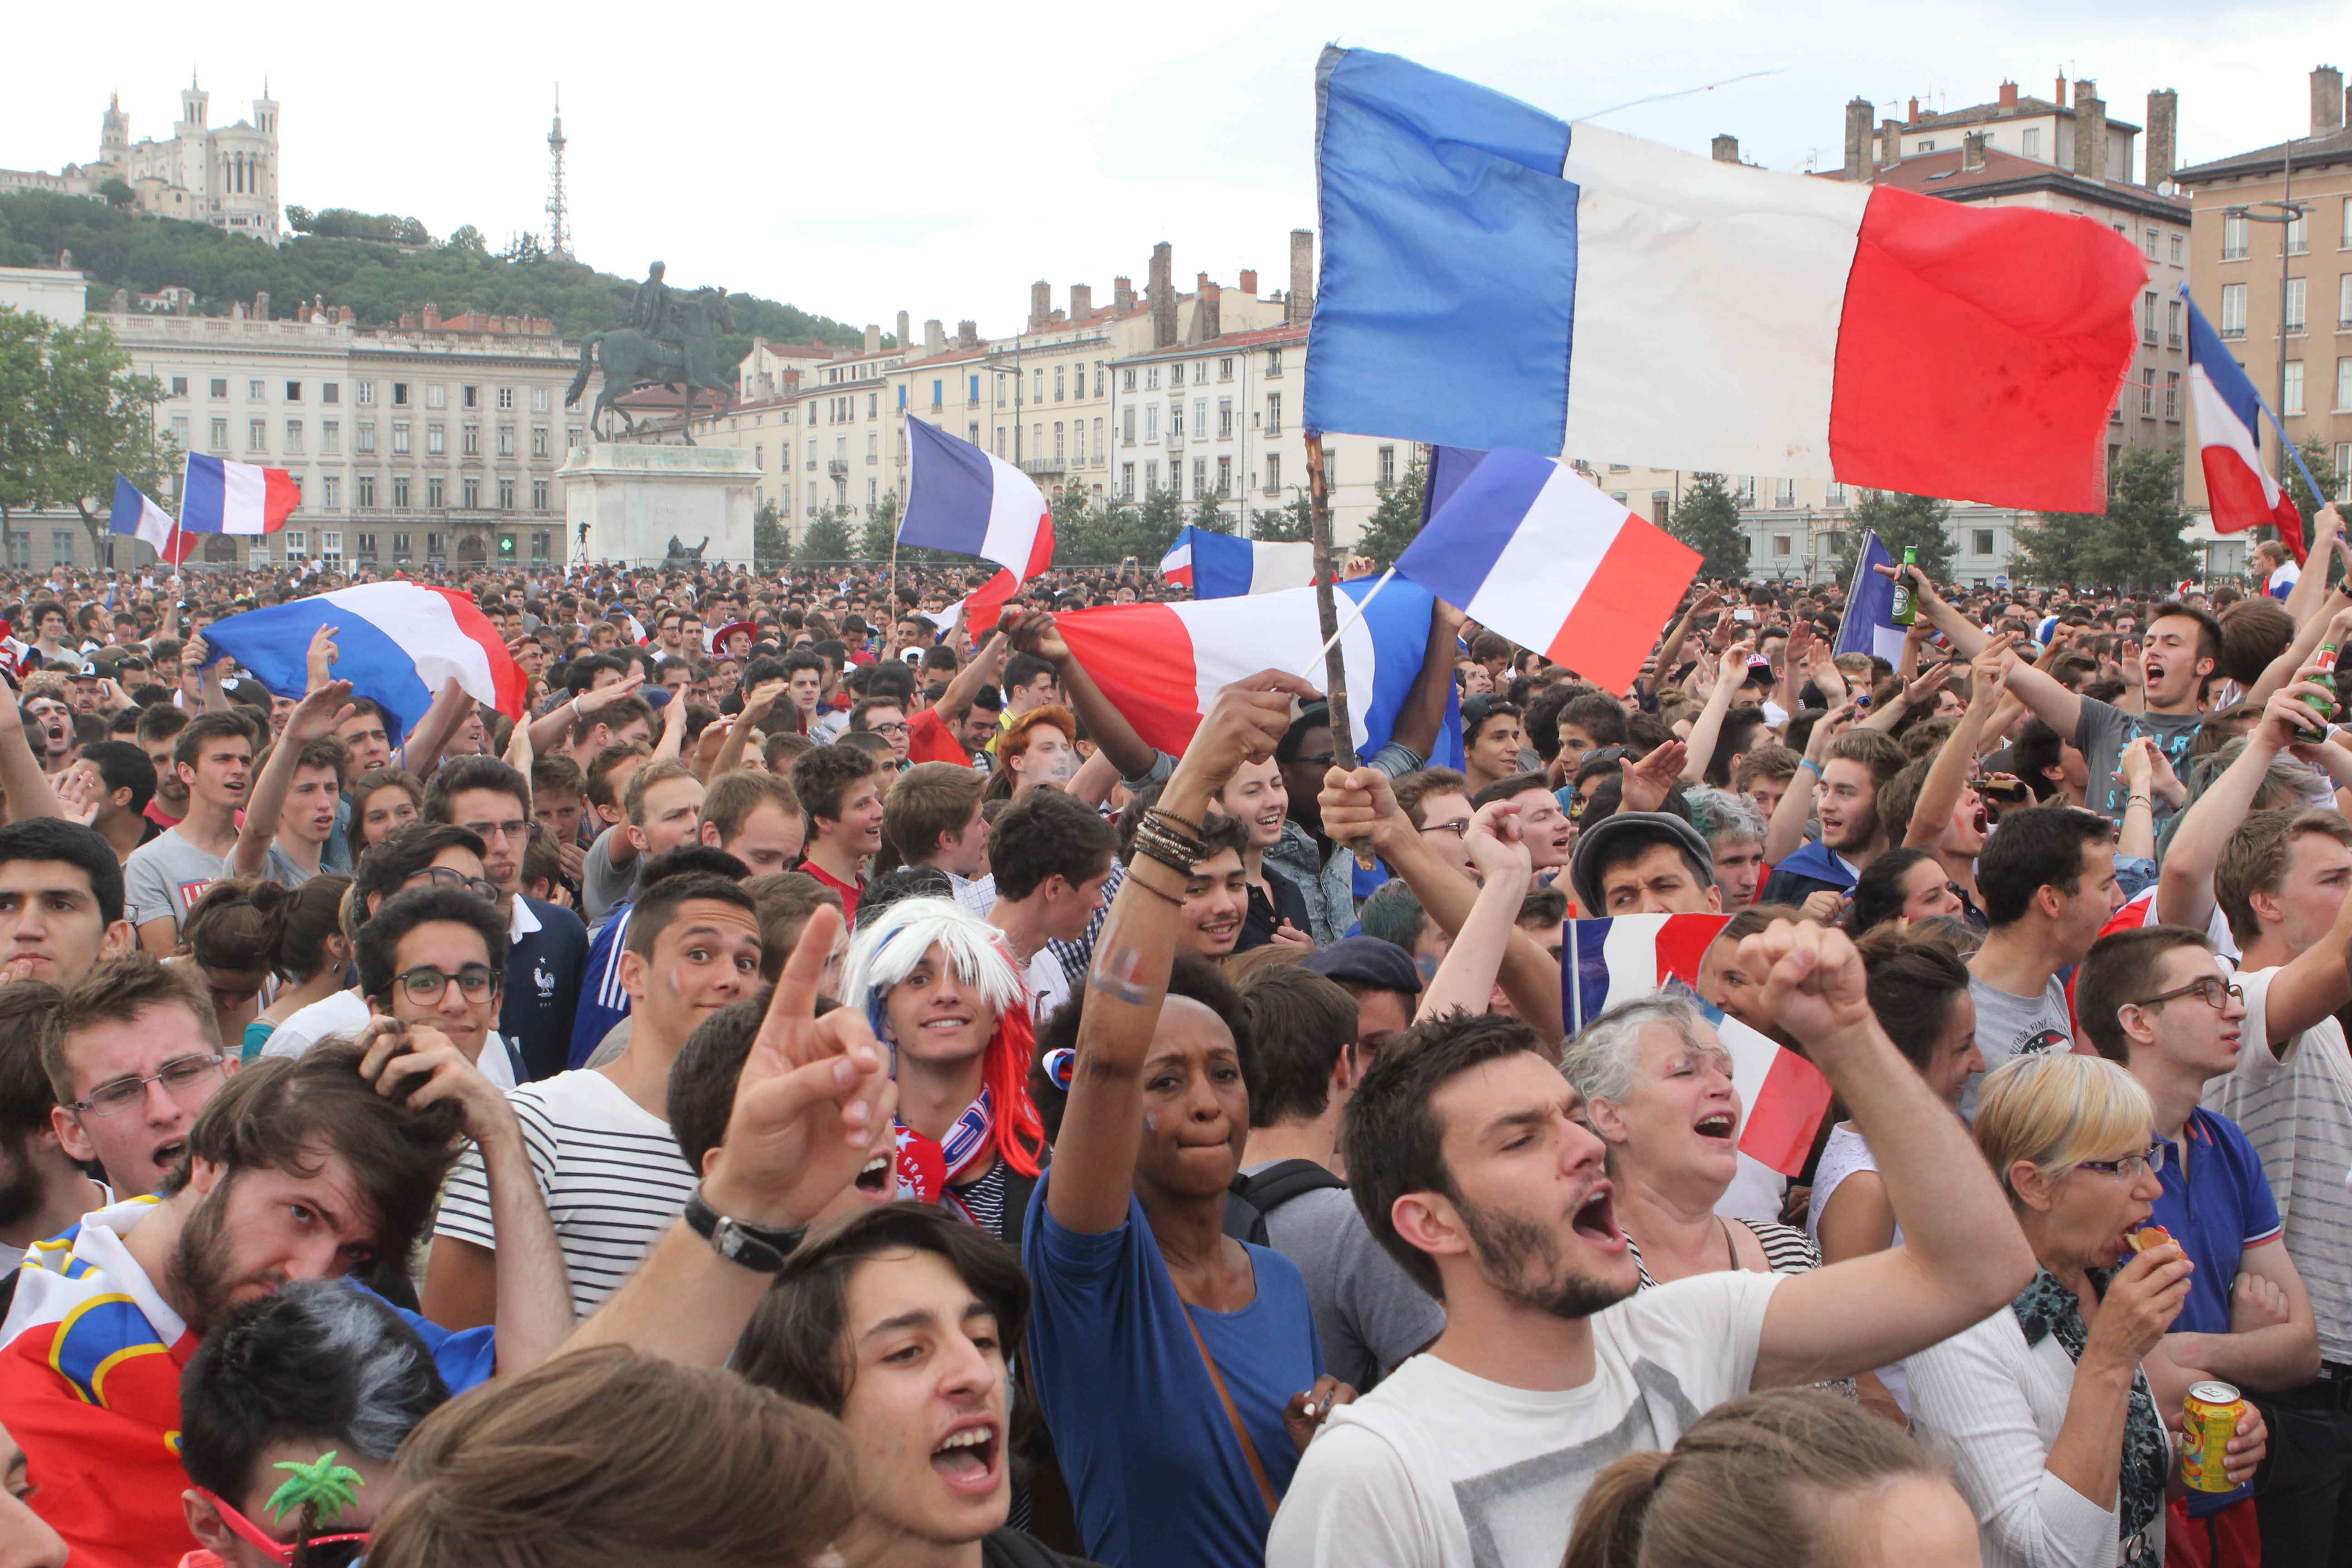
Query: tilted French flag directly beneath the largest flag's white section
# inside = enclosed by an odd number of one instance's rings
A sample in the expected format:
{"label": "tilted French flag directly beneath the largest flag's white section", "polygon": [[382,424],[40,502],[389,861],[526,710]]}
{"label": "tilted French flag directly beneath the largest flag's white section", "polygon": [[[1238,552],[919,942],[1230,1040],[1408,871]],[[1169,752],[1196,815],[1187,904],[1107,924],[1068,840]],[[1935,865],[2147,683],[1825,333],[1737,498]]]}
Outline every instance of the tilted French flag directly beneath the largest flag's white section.
{"label": "tilted French flag directly beneath the largest flag's white section", "polygon": [[1468,473],[1449,475],[1397,574],[1602,691],[1630,686],[1705,557],[1559,458],[1449,451],[1437,465]]}

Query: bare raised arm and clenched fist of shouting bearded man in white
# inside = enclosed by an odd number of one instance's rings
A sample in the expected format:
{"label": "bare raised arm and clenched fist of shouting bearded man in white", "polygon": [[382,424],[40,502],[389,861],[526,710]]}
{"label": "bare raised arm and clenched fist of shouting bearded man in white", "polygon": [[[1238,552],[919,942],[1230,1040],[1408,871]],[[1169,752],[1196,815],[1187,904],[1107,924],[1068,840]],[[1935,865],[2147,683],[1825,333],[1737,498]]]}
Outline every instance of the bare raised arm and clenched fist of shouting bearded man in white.
{"label": "bare raised arm and clenched fist of shouting bearded man in white", "polygon": [[1740,943],[1762,1006],[1830,1074],[1877,1157],[1903,1246],[1792,1274],[1773,1291],[1755,1385],[1853,1378],[2009,1305],[2034,1255],[1969,1128],[1907,1072],[1870,1011],[1844,931],[1773,922]]}

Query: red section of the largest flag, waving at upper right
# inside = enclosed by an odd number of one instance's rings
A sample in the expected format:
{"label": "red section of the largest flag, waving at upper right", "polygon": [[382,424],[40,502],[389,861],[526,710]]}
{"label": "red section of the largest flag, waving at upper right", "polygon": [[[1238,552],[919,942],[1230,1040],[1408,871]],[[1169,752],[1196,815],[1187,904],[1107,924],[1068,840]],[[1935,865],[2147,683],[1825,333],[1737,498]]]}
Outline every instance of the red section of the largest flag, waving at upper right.
{"label": "red section of the largest flag, waving at upper right", "polygon": [[1872,190],[1837,329],[1837,477],[2105,512],[2107,409],[2145,280],[2103,223]]}

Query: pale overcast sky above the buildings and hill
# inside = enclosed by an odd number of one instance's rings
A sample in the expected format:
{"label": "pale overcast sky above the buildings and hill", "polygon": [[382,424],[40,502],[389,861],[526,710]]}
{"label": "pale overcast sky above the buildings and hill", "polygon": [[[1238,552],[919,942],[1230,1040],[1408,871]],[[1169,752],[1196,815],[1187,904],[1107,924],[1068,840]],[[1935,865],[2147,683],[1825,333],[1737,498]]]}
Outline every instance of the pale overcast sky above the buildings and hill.
{"label": "pale overcast sky above the buildings and hill", "polygon": [[[2051,16],[2051,9],[2079,12]],[[562,82],[574,249],[621,275],[717,282],[851,324],[974,317],[1011,331],[1028,284],[1176,275],[1277,289],[1315,223],[1312,82],[1324,42],[1390,49],[1613,129],[1705,153],[1731,132],[1773,169],[1842,158],[1846,99],[1962,108],[2002,78],[2046,96],[2098,80],[2145,122],[2180,92],[2180,160],[2307,129],[2307,71],[2347,5],[2150,0],[2049,7],[1759,5],[445,5],[390,12],[247,0],[73,7],[9,21],[0,167],[96,158],[106,94],[132,139],[169,136],[191,68],[212,125],[280,101],[282,200],[414,214],[503,244],[546,228],[546,132]],[[141,16],[141,12],[151,12]],[[233,16],[233,26],[230,26]],[[209,42],[205,42],[209,38]],[[31,68],[28,68],[31,66]],[[454,308],[466,301],[440,301]],[[920,329],[920,327],[917,327]]]}

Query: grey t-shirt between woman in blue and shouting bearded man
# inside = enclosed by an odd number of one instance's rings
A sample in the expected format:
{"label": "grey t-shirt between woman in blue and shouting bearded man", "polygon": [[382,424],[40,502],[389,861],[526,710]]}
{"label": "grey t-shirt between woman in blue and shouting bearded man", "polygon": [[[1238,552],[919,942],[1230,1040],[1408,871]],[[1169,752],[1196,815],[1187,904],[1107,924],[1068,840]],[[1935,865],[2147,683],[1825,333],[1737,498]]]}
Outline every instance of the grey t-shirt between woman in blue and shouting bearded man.
{"label": "grey t-shirt between woman in blue and shouting bearded man", "polygon": [[[1261,1159],[1242,1173],[1275,1164]],[[1345,1187],[1301,1192],[1265,1215],[1265,1234],[1305,1274],[1324,1371],[1357,1394],[1444,1333],[1446,1309],[1371,1239]]]}

